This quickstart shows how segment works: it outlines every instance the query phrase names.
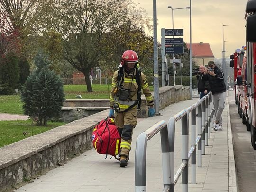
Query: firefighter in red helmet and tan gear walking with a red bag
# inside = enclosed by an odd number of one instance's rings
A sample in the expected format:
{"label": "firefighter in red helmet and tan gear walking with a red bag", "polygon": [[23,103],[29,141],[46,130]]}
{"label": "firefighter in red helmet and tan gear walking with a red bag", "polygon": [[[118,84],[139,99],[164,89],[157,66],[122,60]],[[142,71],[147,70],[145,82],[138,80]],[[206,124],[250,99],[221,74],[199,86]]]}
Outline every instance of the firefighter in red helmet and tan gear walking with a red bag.
{"label": "firefighter in red helmet and tan gear walking with a red bag", "polygon": [[133,50],[126,50],[121,58],[119,70],[114,72],[110,94],[110,117],[121,135],[120,167],[128,164],[133,128],[137,125],[137,110],[140,110],[141,88],[147,100],[148,116],[154,117],[154,100],[150,93],[146,75],[137,68],[138,56]]}

